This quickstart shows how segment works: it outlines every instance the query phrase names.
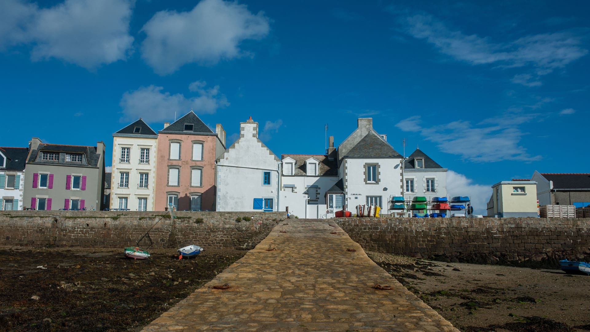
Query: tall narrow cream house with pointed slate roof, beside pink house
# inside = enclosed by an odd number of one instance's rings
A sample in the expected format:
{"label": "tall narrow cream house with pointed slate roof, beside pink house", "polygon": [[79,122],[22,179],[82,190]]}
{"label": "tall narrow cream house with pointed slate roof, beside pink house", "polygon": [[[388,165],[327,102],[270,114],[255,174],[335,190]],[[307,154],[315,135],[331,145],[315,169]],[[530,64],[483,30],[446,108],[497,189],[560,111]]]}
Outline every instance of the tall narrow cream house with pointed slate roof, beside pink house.
{"label": "tall narrow cream house with pointed slate roof, beside pink house", "polygon": [[158,134],[139,119],[113,134],[110,209],[155,210]]}

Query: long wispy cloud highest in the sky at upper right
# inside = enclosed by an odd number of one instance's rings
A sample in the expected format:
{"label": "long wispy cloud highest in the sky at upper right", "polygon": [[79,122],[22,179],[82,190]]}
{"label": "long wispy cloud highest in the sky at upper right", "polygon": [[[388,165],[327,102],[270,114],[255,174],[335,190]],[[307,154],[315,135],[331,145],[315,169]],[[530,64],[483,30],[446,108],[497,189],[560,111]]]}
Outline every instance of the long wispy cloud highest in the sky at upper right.
{"label": "long wispy cloud highest in the sky at upper right", "polygon": [[[443,54],[473,65],[496,64],[503,68],[532,66],[535,75],[542,76],[588,54],[588,50],[582,47],[584,34],[572,31],[529,35],[494,43],[488,37],[451,30],[428,14],[405,15],[400,21],[407,34],[426,40]],[[529,77],[515,76],[513,82],[540,85],[532,79],[530,74]]]}

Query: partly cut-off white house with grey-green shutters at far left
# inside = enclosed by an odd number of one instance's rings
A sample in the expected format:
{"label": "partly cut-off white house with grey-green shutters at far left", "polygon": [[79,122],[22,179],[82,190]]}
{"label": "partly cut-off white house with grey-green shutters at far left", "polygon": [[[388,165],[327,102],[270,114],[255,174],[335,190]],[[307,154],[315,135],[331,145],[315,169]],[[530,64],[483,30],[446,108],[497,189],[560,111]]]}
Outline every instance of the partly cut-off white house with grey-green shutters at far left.
{"label": "partly cut-off white house with grey-green shutters at far left", "polygon": [[0,210],[22,210],[28,148],[0,147]]}

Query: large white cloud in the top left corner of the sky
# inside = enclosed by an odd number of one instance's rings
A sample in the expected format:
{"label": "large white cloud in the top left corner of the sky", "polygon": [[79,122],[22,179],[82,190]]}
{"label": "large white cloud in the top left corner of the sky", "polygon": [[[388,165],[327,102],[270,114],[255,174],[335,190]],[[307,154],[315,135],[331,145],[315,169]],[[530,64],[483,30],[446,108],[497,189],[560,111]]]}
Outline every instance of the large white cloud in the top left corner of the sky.
{"label": "large white cloud in the top left corner of the sky", "polygon": [[132,0],[66,0],[39,8],[19,0],[0,2],[0,47],[31,45],[34,61],[57,58],[86,69],[124,60],[133,37]]}

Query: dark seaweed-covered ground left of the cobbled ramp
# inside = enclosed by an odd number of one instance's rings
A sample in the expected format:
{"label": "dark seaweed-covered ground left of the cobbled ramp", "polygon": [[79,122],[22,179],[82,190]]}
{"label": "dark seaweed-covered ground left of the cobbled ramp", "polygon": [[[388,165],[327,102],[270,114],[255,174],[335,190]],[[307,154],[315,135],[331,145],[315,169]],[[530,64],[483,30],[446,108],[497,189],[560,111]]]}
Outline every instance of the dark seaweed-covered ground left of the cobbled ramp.
{"label": "dark seaweed-covered ground left of the cobbled ramp", "polygon": [[137,331],[247,252],[150,251],[0,248],[0,330]]}

